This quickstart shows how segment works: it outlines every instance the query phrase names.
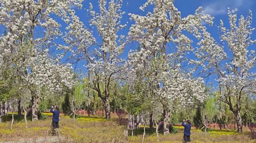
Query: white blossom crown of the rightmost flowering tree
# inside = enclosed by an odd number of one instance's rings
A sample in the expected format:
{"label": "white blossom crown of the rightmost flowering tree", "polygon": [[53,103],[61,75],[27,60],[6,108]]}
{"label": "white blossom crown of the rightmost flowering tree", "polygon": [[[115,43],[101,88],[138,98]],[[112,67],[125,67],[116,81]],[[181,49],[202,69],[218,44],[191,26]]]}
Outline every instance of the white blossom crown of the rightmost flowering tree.
{"label": "white blossom crown of the rightmost flowering tree", "polygon": [[[191,60],[195,65],[195,71],[202,67],[206,75],[217,75],[217,82],[223,91],[224,101],[231,96],[241,99],[245,93],[256,92],[256,73],[253,71],[256,65],[256,54],[254,50],[249,51],[249,46],[256,43],[252,40],[252,12],[244,18],[240,16],[237,22],[237,9],[228,9],[229,28],[224,27],[220,20],[220,41],[218,44],[210,33],[202,31],[202,39],[198,42],[200,46],[195,55],[199,60]],[[238,23],[238,25],[237,25]],[[237,105],[240,100],[237,101]]]}

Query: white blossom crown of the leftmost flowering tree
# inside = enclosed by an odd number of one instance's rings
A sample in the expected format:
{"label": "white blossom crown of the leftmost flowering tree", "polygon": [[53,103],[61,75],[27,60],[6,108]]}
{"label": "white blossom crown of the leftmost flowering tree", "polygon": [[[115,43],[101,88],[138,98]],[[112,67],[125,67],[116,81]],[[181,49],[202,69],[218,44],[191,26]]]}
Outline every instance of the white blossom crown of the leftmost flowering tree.
{"label": "white blossom crown of the leftmost flowering tree", "polygon": [[70,65],[59,65],[51,58],[51,48],[56,46],[54,38],[62,35],[61,24],[51,15],[69,22],[71,5],[82,7],[82,1],[0,0],[0,26],[6,28],[0,35],[0,64],[11,67],[20,86],[49,92],[60,90],[63,85],[72,88]]}

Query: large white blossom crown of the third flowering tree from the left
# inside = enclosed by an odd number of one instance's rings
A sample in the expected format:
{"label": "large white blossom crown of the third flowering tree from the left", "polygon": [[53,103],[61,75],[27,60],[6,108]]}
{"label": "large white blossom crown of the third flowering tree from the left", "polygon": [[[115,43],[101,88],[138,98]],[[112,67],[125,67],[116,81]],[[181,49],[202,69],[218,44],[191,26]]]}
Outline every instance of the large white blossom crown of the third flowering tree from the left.
{"label": "large white blossom crown of the third flowering tree from the left", "polygon": [[[193,41],[183,31],[200,39],[205,31],[202,22],[212,25],[213,18],[200,12],[202,7],[194,15],[182,18],[173,0],[148,0],[140,9],[144,10],[149,4],[154,6],[153,13],[148,12],[146,16],[129,14],[135,22],[130,28],[129,39],[140,45],[139,50],[130,51],[128,55],[131,83],[149,82],[144,84],[147,85],[144,90],[150,88],[158,99],[155,101],[169,109],[203,102],[206,95],[202,79],[192,79],[180,66],[188,62],[184,58],[186,53],[193,51]],[[175,46],[171,49],[167,45]]]}

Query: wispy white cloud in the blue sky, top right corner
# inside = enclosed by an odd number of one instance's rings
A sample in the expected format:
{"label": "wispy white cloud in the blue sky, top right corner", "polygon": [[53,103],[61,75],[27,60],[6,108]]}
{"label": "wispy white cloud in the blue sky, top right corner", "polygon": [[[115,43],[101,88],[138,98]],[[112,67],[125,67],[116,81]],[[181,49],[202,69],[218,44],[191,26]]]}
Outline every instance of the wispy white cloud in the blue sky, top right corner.
{"label": "wispy white cloud in the blue sky, top right corner", "polygon": [[252,3],[253,0],[214,0],[212,3],[205,4],[203,11],[209,15],[223,15],[227,13],[228,7],[248,10]]}

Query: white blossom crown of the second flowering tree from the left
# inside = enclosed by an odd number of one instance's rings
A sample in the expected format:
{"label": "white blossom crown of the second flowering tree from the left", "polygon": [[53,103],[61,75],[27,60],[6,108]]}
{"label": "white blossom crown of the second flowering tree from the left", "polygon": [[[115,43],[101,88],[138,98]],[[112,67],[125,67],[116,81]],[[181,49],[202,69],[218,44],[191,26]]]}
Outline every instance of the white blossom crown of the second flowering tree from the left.
{"label": "white blossom crown of the second flowering tree from the left", "polygon": [[[109,88],[113,80],[124,77],[125,60],[120,58],[125,47],[124,36],[120,36],[119,44],[116,41],[117,32],[126,25],[121,25],[122,15],[124,15],[121,11],[122,0],[110,0],[108,6],[106,0],[98,2],[99,13],[93,10],[90,3],[90,10],[88,10],[92,17],[90,30],[74,13],[71,13],[71,23],[66,28],[68,32],[63,36],[67,45],[60,45],[58,49],[64,51],[59,55],[60,58],[71,53],[69,58],[74,60],[74,63],[85,62],[84,66],[88,69],[88,73],[95,77],[90,80],[92,88],[95,88],[96,83],[105,83],[106,88]],[[97,32],[91,31],[94,28]],[[96,41],[93,33],[99,34],[101,43]]]}

